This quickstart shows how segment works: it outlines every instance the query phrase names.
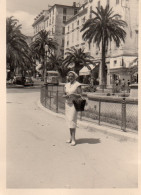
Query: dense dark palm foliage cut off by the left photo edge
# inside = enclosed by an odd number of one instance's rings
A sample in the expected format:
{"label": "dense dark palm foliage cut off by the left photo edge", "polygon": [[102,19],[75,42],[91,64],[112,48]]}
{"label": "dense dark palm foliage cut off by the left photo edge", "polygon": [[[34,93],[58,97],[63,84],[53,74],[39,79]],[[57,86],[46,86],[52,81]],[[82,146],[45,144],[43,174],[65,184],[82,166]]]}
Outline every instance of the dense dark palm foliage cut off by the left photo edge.
{"label": "dense dark palm foliage cut off by the left photo edge", "polygon": [[6,19],[6,60],[11,73],[14,73],[17,67],[24,71],[31,62],[26,36],[21,33],[21,27],[17,19]]}

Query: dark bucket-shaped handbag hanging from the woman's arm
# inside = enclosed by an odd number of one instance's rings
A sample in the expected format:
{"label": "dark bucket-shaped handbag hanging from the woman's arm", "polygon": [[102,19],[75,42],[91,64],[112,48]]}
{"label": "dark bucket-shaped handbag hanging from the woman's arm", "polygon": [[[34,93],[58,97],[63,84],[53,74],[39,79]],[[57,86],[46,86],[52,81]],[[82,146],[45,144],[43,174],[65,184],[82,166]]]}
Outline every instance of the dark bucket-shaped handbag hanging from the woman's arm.
{"label": "dark bucket-shaped handbag hanging from the woman's arm", "polygon": [[80,98],[73,100],[73,104],[77,112],[84,111],[86,100],[80,97]]}

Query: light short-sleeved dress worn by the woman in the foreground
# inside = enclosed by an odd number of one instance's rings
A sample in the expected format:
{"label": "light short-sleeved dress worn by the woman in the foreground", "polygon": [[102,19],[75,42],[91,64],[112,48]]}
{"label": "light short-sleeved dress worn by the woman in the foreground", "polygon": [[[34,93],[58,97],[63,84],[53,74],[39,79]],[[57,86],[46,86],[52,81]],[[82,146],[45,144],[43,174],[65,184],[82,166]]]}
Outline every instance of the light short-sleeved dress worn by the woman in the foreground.
{"label": "light short-sleeved dress worn by the woman in the foreground", "polygon": [[[67,83],[65,85],[66,94],[71,95],[73,93],[77,93],[77,88],[79,86],[81,86],[81,84],[77,81],[75,81],[73,84],[71,84],[70,82]],[[72,102],[73,99],[74,98],[68,98],[66,99],[65,103],[65,116],[68,128],[76,128],[77,126],[77,112]]]}

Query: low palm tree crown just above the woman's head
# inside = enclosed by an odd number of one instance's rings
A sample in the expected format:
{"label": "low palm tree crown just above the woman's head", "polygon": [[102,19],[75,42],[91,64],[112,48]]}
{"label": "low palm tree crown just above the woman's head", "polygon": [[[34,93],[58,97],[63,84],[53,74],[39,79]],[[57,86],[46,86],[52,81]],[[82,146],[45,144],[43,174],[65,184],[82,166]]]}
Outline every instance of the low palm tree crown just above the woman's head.
{"label": "low palm tree crown just above the woman's head", "polygon": [[89,55],[89,53],[85,53],[84,49],[75,47],[67,49],[63,64],[65,67],[69,67],[71,64],[74,65],[74,71],[78,74],[83,66],[87,66],[89,69],[89,64],[94,64],[94,58]]}

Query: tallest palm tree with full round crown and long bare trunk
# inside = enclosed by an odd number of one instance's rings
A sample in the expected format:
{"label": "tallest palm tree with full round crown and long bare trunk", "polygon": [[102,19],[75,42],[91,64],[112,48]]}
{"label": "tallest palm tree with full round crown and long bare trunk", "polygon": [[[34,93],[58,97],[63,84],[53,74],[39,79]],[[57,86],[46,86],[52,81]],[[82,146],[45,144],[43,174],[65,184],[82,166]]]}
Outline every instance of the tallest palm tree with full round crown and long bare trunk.
{"label": "tallest palm tree with full round crown and long bare trunk", "polygon": [[106,85],[106,66],[105,56],[106,48],[109,42],[114,41],[116,46],[119,47],[120,43],[125,42],[126,32],[124,28],[127,26],[126,22],[117,19],[121,18],[119,14],[114,14],[113,9],[107,5],[105,9],[103,6],[96,7],[97,12],[91,11],[95,17],[88,19],[81,31],[85,31],[82,35],[85,41],[96,43],[102,48],[102,76],[101,83]]}

